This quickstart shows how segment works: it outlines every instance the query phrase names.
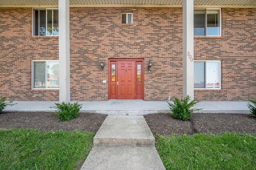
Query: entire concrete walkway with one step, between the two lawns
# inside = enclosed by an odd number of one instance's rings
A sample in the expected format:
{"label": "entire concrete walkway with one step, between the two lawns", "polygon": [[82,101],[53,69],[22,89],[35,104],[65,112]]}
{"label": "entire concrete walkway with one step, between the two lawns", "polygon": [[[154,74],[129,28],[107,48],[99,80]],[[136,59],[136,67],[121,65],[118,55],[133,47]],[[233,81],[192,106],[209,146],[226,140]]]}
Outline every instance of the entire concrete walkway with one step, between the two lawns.
{"label": "entire concrete walkway with one step, between the two lawns", "polygon": [[165,170],[143,116],[108,116],[81,170]]}

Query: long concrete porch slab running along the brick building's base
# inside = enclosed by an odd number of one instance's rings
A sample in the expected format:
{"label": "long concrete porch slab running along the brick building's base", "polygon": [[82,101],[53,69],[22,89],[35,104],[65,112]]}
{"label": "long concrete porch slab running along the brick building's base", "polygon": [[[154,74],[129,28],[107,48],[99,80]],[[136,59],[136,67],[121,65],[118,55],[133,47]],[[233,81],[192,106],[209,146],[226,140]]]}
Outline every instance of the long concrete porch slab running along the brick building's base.
{"label": "long concrete porch slab running along the brick building's base", "polygon": [[[172,102],[172,101],[169,101]],[[4,111],[46,111],[56,109],[58,101],[14,101],[13,106],[7,106]],[[74,102],[72,102],[74,103]],[[82,104],[80,112],[103,113],[108,115],[146,115],[150,113],[168,113],[170,109],[166,101],[143,100],[109,100],[109,101],[78,101]],[[247,101],[201,101],[194,108],[202,108],[195,113],[250,113]]]}

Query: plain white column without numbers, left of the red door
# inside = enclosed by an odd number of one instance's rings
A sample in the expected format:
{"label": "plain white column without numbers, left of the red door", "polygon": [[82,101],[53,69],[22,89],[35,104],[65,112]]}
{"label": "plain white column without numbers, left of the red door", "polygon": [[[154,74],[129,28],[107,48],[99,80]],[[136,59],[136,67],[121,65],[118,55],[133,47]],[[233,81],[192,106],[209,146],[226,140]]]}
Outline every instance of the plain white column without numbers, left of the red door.
{"label": "plain white column without numbers, left of the red door", "polygon": [[59,0],[59,101],[70,102],[69,0]]}

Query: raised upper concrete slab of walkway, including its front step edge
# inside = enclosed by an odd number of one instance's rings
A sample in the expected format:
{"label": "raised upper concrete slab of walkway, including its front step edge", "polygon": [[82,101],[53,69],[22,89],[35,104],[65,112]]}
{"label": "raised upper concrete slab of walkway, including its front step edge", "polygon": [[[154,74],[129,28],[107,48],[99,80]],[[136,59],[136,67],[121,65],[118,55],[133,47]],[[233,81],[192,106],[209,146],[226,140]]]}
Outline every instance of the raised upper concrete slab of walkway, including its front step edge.
{"label": "raised upper concrete slab of walkway, including its front step edge", "polygon": [[142,115],[110,115],[94,136],[95,145],[154,146],[155,138]]}

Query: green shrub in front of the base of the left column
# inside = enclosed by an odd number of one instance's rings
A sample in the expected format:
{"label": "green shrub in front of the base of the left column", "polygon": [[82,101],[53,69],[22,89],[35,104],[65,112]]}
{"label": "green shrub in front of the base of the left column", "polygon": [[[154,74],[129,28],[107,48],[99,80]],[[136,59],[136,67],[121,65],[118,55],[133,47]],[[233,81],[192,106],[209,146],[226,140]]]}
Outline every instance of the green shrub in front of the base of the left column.
{"label": "green shrub in front of the base of the left column", "polygon": [[58,115],[59,120],[62,122],[77,118],[79,116],[78,112],[82,108],[82,106],[78,104],[78,102],[74,104],[70,104],[69,102],[68,104],[65,102],[62,102],[62,103],[55,103],[55,105],[56,107],[53,107],[53,108],[56,108],[58,110],[55,111],[54,114]]}

